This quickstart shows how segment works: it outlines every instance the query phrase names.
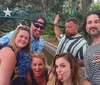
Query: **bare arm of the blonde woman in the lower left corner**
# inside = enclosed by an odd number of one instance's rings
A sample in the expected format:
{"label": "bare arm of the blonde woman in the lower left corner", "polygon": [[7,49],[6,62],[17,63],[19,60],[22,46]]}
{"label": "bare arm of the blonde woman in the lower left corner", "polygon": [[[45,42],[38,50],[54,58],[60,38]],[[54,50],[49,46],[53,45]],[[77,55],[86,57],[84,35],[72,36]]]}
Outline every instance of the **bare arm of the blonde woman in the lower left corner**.
{"label": "bare arm of the blonde woman in the lower left corner", "polygon": [[0,85],[10,85],[15,65],[15,53],[8,47],[2,48],[0,50]]}

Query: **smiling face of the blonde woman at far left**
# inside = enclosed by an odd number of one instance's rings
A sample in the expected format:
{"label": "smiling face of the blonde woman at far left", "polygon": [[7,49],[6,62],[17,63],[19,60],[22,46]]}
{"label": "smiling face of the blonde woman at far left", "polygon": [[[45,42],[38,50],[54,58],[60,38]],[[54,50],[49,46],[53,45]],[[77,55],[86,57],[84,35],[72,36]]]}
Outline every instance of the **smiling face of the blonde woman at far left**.
{"label": "smiling face of the blonde woman at far left", "polygon": [[16,48],[21,49],[28,44],[29,41],[29,32],[26,30],[19,30],[15,38]]}

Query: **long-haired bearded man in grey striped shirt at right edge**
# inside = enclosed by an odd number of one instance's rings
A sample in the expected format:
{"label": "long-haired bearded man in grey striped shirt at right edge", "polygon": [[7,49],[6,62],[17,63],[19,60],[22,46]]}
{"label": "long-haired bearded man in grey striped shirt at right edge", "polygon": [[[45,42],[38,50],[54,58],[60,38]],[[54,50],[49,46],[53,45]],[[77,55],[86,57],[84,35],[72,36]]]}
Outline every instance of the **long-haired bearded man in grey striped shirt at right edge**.
{"label": "long-haired bearded man in grey striped shirt at right edge", "polygon": [[92,44],[84,55],[86,79],[92,85],[100,85],[100,11],[88,13],[84,25],[85,32],[92,39]]}

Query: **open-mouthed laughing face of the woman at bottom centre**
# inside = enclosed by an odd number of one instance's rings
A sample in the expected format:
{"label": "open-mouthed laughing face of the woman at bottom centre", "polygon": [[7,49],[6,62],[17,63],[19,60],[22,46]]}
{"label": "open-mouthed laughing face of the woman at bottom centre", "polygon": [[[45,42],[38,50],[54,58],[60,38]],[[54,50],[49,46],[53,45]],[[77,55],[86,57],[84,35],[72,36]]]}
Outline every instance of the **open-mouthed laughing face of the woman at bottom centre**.
{"label": "open-mouthed laughing face of the woman at bottom centre", "polygon": [[37,77],[41,76],[45,70],[44,61],[40,58],[36,58],[36,57],[32,58],[31,68],[35,76]]}

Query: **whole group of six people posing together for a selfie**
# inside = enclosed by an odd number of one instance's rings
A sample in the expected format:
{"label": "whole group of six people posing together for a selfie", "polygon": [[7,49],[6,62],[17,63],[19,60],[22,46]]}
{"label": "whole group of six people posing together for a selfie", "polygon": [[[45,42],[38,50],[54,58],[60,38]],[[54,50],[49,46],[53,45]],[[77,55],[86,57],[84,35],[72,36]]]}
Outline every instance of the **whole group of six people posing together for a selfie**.
{"label": "whole group of six people posing together for a selfie", "polygon": [[[0,85],[100,85],[100,12],[87,14],[83,30],[91,46],[78,33],[76,18],[65,21],[65,34],[54,19],[59,44],[51,68],[42,52],[46,20],[39,16],[31,28],[22,25],[0,38]],[[85,78],[80,67],[85,67]]]}

